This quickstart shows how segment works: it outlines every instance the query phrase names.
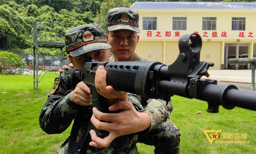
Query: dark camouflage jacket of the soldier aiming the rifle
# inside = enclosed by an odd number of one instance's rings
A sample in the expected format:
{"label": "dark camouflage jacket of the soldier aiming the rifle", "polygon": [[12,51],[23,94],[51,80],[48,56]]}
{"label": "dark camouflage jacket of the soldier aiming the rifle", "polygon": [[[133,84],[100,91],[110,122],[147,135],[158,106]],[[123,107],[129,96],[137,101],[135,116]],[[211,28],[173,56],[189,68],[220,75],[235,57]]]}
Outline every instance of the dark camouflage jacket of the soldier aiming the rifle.
{"label": "dark camouflage jacket of the soldier aiming the rifle", "polygon": [[[52,87],[50,94],[48,94],[47,101],[41,109],[39,122],[41,129],[47,134],[58,134],[65,131],[72,120],[76,120],[76,117],[79,116],[77,119],[80,119],[79,121],[81,121],[81,125],[76,141],[76,151],[79,152],[92,116],[92,109],[91,106],[80,106],[70,100],[70,93],[78,83],[71,83],[71,71],[72,68],[63,70],[63,73],[60,73],[59,77],[55,79],[55,84]],[[140,97],[137,95],[128,94],[128,99],[138,108],[143,108],[140,104]],[[82,115],[81,112],[86,112],[86,114]],[[89,139],[91,139],[90,134],[88,135]],[[127,140],[132,142],[127,142]],[[96,148],[96,150],[94,149],[92,151],[88,147],[87,153],[137,153],[136,141],[136,134],[124,135],[114,139],[114,141],[106,148]],[[68,153],[68,142],[69,137],[61,144],[57,153]]]}

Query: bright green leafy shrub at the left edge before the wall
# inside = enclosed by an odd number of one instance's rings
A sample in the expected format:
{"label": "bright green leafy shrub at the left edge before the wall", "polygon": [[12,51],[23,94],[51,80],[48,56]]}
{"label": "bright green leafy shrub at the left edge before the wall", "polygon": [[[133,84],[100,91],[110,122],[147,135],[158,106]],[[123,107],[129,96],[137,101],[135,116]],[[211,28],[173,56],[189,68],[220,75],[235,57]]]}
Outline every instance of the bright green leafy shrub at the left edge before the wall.
{"label": "bright green leafy shrub at the left edge before the wall", "polygon": [[13,52],[0,51],[0,64],[2,64],[2,72],[5,65],[10,65],[12,67],[16,66],[18,68],[26,68],[26,63],[22,61],[21,57],[14,54]]}

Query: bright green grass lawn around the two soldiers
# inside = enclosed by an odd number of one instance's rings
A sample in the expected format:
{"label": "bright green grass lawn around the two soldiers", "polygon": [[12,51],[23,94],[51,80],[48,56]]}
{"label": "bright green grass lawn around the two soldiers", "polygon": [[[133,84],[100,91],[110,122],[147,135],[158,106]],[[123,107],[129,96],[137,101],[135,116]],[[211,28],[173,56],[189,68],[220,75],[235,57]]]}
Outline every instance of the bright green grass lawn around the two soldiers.
{"label": "bright green grass lawn around the two soldiers", "polygon": [[[0,153],[56,153],[59,145],[71,131],[48,135],[39,127],[39,113],[47,100],[55,73],[47,72],[39,83],[39,92],[33,89],[33,75],[0,75]],[[3,92],[6,92],[3,94]],[[174,110],[170,119],[181,136],[180,153],[255,153],[256,112],[242,108],[208,113],[207,102],[173,97]],[[201,114],[195,112],[201,111]],[[214,139],[209,143],[203,130],[221,130],[232,133],[232,139]],[[241,139],[241,134],[247,134]],[[213,133],[208,133],[213,134]],[[244,136],[243,136],[244,137]],[[250,141],[250,143],[216,143],[219,141]],[[140,153],[154,153],[153,146],[137,144]]]}

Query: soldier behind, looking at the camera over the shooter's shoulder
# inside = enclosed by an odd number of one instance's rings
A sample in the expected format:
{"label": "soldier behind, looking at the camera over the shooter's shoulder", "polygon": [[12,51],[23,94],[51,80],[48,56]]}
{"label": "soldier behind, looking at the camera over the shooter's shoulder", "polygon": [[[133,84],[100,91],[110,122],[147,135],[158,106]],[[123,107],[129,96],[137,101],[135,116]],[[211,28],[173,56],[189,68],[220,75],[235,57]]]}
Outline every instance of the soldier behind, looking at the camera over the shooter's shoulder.
{"label": "soldier behind, looking at the camera over the shooter's shoulder", "polygon": [[[113,8],[108,11],[107,14],[107,35],[109,44],[112,46],[110,51],[113,53],[113,57],[110,57],[110,61],[145,61],[135,53],[135,48],[138,43],[140,30],[138,29],[138,13],[129,8]],[[145,109],[140,108],[140,111],[151,110],[152,104],[155,106],[162,106],[158,113],[154,113],[155,117],[151,119],[151,127],[138,134],[138,140],[136,142],[144,143],[147,145],[155,146],[155,153],[179,153],[180,132],[176,125],[168,119],[170,112],[173,109],[171,100],[166,106],[165,101],[158,99],[148,100],[148,105],[145,101],[141,103],[146,106]],[[161,113],[167,116],[159,117]],[[156,122],[163,120],[161,122]],[[99,122],[99,121],[98,121]],[[154,123],[157,124],[154,124]],[[97,123],[95,123],[97,124]],[[105,124],[108,125],[108,124]],[[153,127],[154,126],[154,127]]]}

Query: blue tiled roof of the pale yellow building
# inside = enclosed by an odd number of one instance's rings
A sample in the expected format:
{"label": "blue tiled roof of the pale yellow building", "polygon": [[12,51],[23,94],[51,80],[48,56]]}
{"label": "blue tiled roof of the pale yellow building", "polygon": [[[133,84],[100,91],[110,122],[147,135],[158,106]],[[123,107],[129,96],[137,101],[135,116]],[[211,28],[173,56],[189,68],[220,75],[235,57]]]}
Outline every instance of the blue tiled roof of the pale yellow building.
{"label": "blue tiled roof of the pale yellow building", "polygon": [[131,8],[256,9],[250,2],[134,2]]}

